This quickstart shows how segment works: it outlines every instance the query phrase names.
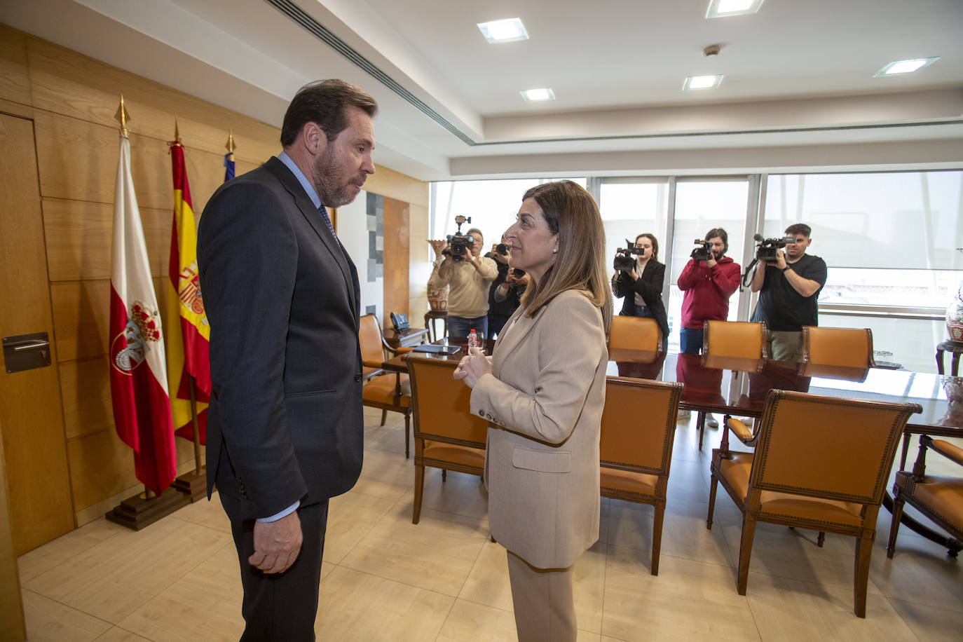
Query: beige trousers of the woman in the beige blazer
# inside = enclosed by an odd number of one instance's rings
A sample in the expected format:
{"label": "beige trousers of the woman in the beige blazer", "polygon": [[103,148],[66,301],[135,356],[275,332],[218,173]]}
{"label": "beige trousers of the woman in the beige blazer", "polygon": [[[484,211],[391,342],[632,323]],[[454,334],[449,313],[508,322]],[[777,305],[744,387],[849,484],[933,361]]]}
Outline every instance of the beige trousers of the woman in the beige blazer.
{"label": "beige trousers of the woman in the beige blazer", "polygon": [[538,569],[508,551],[518,642],[575,642],[574,568]]}

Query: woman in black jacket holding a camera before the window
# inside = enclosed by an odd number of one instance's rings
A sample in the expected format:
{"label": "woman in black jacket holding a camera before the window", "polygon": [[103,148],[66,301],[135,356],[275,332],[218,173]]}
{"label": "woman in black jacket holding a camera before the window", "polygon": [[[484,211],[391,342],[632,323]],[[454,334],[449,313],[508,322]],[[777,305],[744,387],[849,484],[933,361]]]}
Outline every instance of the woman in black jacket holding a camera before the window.
{"label": "woman in black jacket holding a camera before the window", "polygon": [[659,263],[659,242],[646,232],[636,237],[641,250],[636,267],[619,270],[612,275],[612,294],[624,296],[621,314],[626,317],[648,317],[659,323],[663,333],[663,350],[668,349],[668,318],[662,301],[665,264]]}

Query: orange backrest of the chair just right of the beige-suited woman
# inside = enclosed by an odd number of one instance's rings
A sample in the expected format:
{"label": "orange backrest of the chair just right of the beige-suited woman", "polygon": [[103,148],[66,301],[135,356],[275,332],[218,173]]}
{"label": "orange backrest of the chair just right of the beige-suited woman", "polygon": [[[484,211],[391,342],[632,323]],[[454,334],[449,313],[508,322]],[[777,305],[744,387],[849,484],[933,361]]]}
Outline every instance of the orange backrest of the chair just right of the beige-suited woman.
{"label": "orange backrest of the chair just right of the beige-suited woman", "polygon": [[608,468],[668,475],[681,383],[608,377],[599,453]]}

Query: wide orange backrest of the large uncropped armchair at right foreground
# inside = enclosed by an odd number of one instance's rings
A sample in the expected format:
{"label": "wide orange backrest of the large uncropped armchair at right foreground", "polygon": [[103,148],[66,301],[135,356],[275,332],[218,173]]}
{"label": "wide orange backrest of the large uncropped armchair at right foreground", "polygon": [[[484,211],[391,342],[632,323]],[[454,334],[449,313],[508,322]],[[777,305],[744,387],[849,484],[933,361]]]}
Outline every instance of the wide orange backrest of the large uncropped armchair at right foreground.
{"label": "wide orange backrest of the large uncropped armchair at right foreground", "polygon": [[878,506],[903,427],[922,410],[916,403],[769,391],[750,487]]}

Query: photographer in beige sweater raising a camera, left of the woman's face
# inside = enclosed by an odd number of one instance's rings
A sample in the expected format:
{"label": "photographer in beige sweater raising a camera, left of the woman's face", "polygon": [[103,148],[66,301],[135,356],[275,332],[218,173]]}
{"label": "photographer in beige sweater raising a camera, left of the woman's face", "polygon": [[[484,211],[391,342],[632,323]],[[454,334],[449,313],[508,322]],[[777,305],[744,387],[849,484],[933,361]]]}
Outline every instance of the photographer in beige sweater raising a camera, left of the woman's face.
{"label": "photographer in beige sweater raising a camera, left of the woman's face", "polygon": [[[457,221],[456,217],[455,220]],[[448,294],[448,335],[464,339],[471,329],[481,337],[488,332],[488,289],[491,281],[498,276],[495,261],[481,256],[484,240],[481,230],[473,227],[467,232],[471,244],[459,232],[449,238],[445,245],[438,271],[431,274],[429,286],[444,288],[451,286]],[[471,221],[469,221],[471,222]]]}

